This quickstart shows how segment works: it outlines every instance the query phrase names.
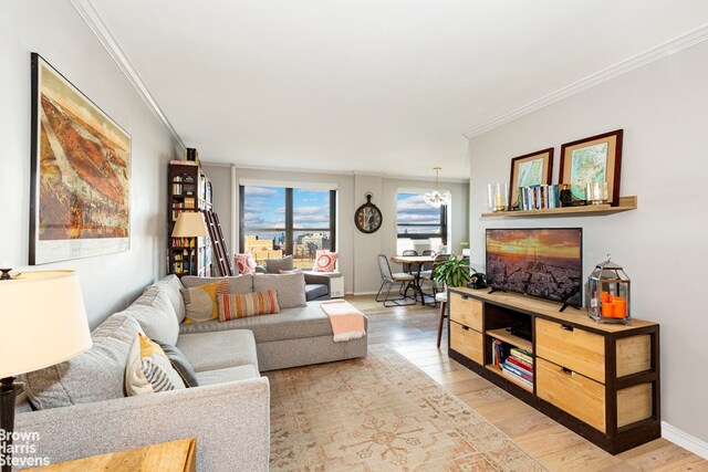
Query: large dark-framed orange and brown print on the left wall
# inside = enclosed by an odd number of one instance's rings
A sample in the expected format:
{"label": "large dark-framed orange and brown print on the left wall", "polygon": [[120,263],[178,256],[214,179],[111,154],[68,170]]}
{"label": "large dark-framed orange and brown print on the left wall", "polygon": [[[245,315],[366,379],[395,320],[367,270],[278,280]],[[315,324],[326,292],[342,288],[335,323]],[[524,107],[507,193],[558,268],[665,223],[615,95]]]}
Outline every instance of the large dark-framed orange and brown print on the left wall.
{"label": "large dark-framed orange and brown print on the left wall", "polygon": [[32,53],[30,264],[129,249],[131,135]]}

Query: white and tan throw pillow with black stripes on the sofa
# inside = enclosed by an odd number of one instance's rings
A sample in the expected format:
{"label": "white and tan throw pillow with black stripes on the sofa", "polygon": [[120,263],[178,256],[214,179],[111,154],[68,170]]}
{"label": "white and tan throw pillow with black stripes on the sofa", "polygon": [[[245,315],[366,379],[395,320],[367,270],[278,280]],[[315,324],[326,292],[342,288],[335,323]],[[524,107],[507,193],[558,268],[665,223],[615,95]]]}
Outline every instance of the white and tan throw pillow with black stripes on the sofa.
{"label": "white and tan throw pillow with black stripes on the sofa", "polygon": [[137,333],[125,366],[125,392],[128,397],[184,388],[185,382],[163,348],[143,333]]}

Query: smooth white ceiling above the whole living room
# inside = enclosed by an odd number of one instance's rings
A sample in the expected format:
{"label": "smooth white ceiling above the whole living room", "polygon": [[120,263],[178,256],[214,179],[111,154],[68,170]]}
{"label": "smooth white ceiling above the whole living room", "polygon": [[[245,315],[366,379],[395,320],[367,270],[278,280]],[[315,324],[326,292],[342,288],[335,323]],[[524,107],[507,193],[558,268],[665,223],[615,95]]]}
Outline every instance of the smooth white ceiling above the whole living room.
{"label": "smooth white ceiling above the whole living room", "polygon": [[72,1],[201,160],[426,178],[469,176],[466,132],[708,23],[705,0]]}

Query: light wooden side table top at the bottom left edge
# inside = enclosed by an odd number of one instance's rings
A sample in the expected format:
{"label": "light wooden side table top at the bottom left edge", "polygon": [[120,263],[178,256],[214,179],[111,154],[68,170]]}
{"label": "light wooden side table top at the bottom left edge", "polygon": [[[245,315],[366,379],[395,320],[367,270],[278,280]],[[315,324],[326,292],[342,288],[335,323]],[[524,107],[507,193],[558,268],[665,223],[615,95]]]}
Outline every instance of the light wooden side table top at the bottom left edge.
{"label": "light wooden side table top at the bottom left edge", "polygon": [[196,472],[197,440],[180,439],[159,444],[60,462],[27,471],[37,472]]}

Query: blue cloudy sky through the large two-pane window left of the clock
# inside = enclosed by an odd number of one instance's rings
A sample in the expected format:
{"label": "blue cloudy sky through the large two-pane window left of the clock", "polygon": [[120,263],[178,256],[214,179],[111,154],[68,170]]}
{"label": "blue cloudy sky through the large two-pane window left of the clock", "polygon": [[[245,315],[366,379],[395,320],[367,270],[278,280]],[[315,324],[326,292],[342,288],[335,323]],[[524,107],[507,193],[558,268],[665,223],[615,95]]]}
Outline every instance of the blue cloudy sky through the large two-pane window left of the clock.
{"label": "blue cloudy sky through the large two-pane window left of the clock", "polygon": [[[247,228],[285,228],[285,189],[246,187],[243,220]],[[330,227],[330,190],[293,189],[293,225]]]}

